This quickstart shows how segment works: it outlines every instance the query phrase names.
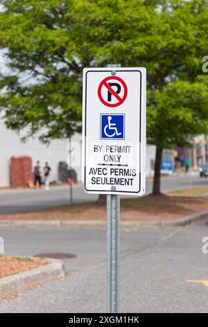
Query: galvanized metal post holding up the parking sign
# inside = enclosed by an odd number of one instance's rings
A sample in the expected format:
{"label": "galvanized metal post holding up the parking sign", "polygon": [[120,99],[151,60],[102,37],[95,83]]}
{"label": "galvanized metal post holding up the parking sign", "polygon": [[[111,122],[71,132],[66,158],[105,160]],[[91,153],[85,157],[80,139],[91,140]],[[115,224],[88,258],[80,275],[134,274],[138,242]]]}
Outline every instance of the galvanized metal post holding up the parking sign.
{"label": "galvanized metal post holding up the parking sign", "polygon": [[[107,65],[121,67],[121,65]],[[112,75],[116,74],[112,70]],[[112,191],[115,191],[112,186]],[[119,312],[120,198],[107,195],[107,312]]]}

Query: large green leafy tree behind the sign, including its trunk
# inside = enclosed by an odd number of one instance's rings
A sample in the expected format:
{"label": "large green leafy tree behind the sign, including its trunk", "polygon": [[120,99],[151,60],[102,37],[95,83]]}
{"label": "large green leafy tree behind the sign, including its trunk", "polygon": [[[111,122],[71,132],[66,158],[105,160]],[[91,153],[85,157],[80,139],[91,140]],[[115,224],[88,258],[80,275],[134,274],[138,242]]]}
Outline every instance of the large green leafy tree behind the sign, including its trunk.
{"label": "large green leafy tree behind the sign, including its trunk", "polygon": [[80,131],[83,67],[144,66],[148,143],[189,145],[207,130],[207,0],[0,0],[0,48],[10,72],[0,79],[9,128],[69,138]]}

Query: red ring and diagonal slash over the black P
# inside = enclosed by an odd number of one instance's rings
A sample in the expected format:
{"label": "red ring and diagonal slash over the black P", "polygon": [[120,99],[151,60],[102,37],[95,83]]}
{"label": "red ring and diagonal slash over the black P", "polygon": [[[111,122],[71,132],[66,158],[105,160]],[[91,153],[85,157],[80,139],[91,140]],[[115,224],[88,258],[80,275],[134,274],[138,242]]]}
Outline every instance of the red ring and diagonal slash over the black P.
{"label": "red ring and diagonal slash over the black P", "polygon": [[[107,83],[107,81],[119,81],[121,83],[121,86],[123,86],[123,97],[120,97],[118,93],[116,93],[113,88]],[[114,104],[110,104],[109,102],[105,101],[105,99],[103,99],[103,96],[101,94],[101,90],[102,88],[107,88],[108,92],[111,93],[111,95],[113,95],[114,97],[116,97],[116,99],[118,100],[118,102],[114,103]],[[127,86],[125,84],[125,81],[123,81],[123,79],[121,79],[120,77],[116,77],[116,76],[110,76],[110,77],[106,77],[105,79],[103,79],[103,81],[101,81],[100,85],[98,86],[98,97],[101,100],[101,102],[103,104],[105,104],[105,106],[110,106],[110,107],[114,107],[114,106],[121,106],[121,104],[123,104],[123,102],[125,101],[126,97],[127,97],[127,93],[128,93],[128,89]]]}

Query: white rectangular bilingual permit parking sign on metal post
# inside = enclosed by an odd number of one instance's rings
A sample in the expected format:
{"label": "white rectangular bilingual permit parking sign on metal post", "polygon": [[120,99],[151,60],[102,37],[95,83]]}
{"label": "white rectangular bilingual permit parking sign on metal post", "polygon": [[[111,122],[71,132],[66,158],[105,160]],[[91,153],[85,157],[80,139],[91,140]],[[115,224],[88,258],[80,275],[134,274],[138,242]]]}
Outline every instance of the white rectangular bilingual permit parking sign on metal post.
{"label": "white rectangular bilingual permit parking sign on metal post", "polygon": [[146,69],[83,70],[83,184],[87,193],[145,193]]}

